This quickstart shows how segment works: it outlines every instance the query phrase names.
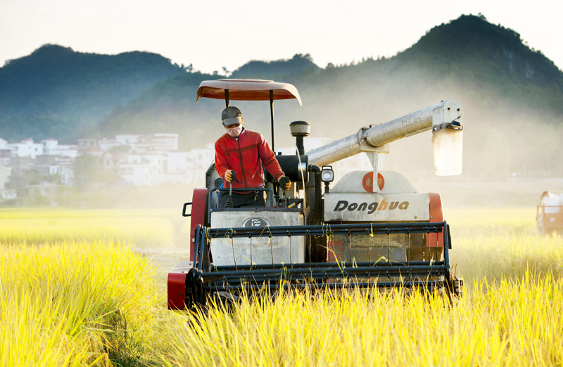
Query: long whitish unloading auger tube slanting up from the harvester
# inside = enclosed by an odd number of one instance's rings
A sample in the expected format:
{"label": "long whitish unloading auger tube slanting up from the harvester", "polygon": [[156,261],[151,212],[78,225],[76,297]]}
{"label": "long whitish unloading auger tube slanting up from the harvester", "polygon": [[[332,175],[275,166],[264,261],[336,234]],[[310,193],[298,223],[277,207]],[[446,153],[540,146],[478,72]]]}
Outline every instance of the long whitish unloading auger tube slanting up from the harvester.
{"label": "long whitish unloading auger tube slanting up from the harvester", "polygon": [[381,125],[362,127],[357,134],[344,137],[330,144],[307,152],[309,164],[324,166],[354,156],[366,148],[382,147],[403,137],[428,131],[433,125],[459,119],[463,108],[457,99],[441,101],[434,106],[409,113],[406,116],[382,123]]}

